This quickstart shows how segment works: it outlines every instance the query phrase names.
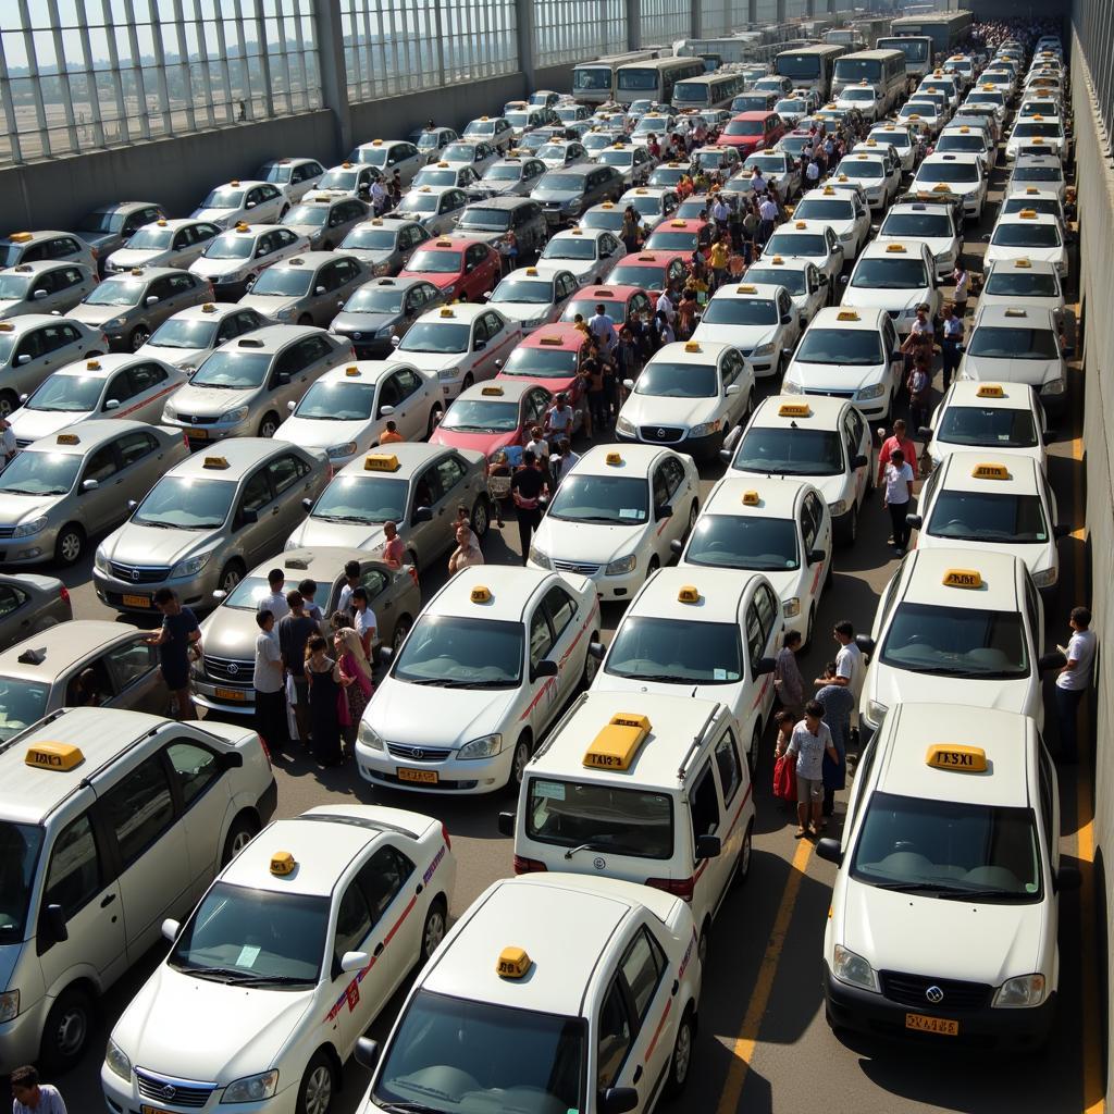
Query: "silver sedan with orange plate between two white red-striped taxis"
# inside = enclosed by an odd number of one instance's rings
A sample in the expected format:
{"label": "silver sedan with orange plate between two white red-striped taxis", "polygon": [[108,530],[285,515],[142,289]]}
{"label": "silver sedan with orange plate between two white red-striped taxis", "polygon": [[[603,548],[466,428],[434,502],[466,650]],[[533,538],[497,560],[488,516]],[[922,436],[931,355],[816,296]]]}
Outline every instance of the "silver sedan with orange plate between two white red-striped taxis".
{"label": "silver sedan with orange plate between two white red-striped taxis", "polygon": [[330,368],[355,360],[346,339],[268,325],[222,344],[163,411],[194,448],[225,438],[274,437],[286,413]]}

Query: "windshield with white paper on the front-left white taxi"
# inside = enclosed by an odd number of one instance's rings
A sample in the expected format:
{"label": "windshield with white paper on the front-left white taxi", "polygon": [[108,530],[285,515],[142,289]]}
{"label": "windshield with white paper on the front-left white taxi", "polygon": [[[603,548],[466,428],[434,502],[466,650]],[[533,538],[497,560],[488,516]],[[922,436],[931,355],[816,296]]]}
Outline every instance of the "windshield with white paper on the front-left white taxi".
{"label": "windshield with white paper on the front-left white taxi", "polygon": [[167,964],[213,983],[316,986],[329,898],[216,882],[186,921]]}

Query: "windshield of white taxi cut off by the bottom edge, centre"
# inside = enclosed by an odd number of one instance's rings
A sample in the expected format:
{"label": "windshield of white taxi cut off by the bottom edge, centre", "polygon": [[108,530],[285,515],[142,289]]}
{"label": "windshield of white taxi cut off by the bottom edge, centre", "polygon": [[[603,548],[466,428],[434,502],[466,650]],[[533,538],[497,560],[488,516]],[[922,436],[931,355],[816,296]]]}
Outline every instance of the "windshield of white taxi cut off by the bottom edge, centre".
{"label": "windshield of white taxi cut off by the bottom edge, centre", "polygon": [[419,990],[371,1094],[377,1108],[421,1114],[580,1114],[584,1072],[579,1018]]}

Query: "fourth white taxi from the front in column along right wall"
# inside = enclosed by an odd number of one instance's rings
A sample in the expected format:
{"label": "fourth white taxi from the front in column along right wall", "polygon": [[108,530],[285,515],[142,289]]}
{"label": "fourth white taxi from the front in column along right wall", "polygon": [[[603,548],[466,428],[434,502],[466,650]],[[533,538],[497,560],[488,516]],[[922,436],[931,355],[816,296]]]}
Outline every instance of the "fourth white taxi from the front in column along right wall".
{"label": "fourth white taxi from the front in column along right wall", "polygon": [[952,452],[981,449],[998,457],[1032,457],[1045,467],[1045,446],[1054,430],[1027,383],[976,383],[956,380],[932,413],[931,426],[918,431],[937,467]]}

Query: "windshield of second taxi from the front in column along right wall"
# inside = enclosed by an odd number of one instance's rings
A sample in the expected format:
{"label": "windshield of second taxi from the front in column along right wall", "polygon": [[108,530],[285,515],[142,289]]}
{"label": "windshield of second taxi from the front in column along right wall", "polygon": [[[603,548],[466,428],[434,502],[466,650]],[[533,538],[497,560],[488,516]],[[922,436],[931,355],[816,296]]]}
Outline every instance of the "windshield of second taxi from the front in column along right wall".
{"label": "windshield of second taxi from the front in column along right wall", "polygon": [[1013,680],[1029,675],[1020,615],[975,607],[899,604],[880,659],[895,670],[945,677]]}

